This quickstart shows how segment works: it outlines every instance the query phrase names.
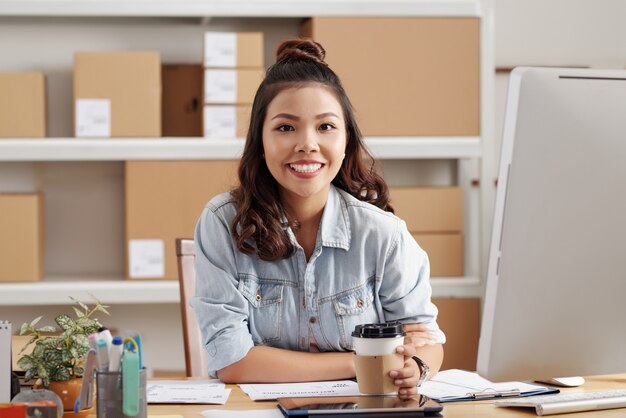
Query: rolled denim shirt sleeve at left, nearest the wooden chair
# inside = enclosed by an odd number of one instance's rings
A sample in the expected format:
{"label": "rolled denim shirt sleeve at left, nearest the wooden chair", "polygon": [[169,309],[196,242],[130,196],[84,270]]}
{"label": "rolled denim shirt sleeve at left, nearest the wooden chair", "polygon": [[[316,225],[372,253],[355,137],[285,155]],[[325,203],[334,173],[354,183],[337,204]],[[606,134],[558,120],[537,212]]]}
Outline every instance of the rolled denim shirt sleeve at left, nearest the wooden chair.
{"label": "rolled denim shirt sleeve at left, nearest the wooden chair", "polygon": [[192,299],[207,354],[209,376],[236,363],[254,346],[248,304],[238,290],[227,222],[209,204],[196,225],[196,295]]}

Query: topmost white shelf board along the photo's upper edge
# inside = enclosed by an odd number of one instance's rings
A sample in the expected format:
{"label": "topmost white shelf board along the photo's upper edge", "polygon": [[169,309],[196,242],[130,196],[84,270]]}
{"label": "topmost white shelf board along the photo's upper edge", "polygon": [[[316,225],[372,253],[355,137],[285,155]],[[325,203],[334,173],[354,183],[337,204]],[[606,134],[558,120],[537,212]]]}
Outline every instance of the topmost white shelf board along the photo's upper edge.
{"label": "topmost white shelf board along the photo's upper edge", "polygon": [[475,0],[0,0],[4,16],[480,16]]}

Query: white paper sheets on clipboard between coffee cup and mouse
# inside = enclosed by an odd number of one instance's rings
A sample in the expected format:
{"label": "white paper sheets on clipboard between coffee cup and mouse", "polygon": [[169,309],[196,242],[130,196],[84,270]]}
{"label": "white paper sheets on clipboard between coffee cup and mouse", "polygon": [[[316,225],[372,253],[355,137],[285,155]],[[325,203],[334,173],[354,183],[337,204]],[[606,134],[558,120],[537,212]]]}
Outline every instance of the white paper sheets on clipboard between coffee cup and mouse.
{"label": "white paper sheets on clipboard between coffee cup and mouse", "polygon": [[450,369],[441,371],[431,380],[424,382],[419,388],[419,393],[433,399],[464,398],[470,393],[483,391],[499,392],[518,389],[520,392],[528,392],[540,387],[523,382],[495,383],[481,377],[478,373]]}

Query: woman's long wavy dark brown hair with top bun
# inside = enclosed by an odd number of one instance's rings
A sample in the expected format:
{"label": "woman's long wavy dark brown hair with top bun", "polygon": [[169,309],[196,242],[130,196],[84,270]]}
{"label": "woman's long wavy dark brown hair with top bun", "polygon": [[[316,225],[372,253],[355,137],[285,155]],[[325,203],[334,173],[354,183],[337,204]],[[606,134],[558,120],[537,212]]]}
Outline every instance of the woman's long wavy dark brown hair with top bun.
{"label": "woman's long wavy dark brown hair with top bun", "polygon": [[[325,55],[324,48],[311,40],[283,42],[276,52],[276,63],[267,70],[256,92],[239,162],[239,186],[232,191],[237,207],[232,235],[239,251],[245,254],[256,252],[262,260],[275,261],[294,251],[284,223],[287,214],[280,202],[278,183],[262,157],[267,108],[278,93],[288,88],[316,83],[330,88],[341,104],[347,130],[346,156],[332,184],[359,200],[393,212],[389,190],[374,171],[374,158],[363,143],[352,104],[339,77],[324,61]],[[291,226],[296,227],[297,221],[292,220]]]}

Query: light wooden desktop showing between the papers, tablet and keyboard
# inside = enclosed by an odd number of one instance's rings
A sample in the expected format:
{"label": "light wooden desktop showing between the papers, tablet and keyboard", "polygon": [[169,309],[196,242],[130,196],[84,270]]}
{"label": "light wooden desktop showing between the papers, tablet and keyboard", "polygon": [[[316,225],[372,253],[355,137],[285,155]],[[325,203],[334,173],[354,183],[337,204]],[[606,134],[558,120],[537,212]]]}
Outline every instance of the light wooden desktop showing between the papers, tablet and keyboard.
{"label": "light wooden desktop showing between the papers, tablet and keyboard", "polygon": [[[232,389],[226,405],[149,405],[149,415],[177,414],[184,417],[201,417],[200,412],[207,409],[268,409],[276,408],[276,402],[254,402],[250,400],[238,386],[229,385]],[[607,389],[626,389],[626,374],[593,376],[586,378],[583,386],[578,388],[564,388],[562,392],[583,392]],[[534,409],[497,408],[493,401],[455,402],[446,403],[443,407],[444,417],[526,417],[536,416]],[[556,417],[557,415],[555,415]],[[558,417],[612,418],[626,416],[626,409],[609,409],[604,411],[578,412],[575,415],[558,415]]]}

